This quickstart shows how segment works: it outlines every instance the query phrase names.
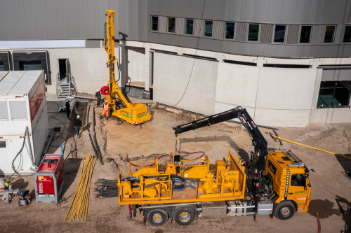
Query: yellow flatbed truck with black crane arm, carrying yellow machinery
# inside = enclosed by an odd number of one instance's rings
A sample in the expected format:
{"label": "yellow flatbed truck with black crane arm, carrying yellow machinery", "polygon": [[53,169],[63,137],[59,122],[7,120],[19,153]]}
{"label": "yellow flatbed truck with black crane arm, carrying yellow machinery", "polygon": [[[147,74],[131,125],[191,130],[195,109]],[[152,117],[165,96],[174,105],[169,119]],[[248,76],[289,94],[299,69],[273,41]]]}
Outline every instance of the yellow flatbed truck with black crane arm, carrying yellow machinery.
{"label": "yellow flatbed truck with black crane arm, carrying yellow machinery", "polygon": [[[255,146],[251,162],[233,157],[216,161],[185,160],[171,153],[166,170],[159,171],[156,158],[152,167],[129,164],[129,174],[119,174],[119,204],[143,210],[154,226],[164,225],[168,218],[179,225],[189,225],[201,216],[276,216],[288,220],[298,212],[306,212],[310,204],[311,185],[308,169],[291,150],[267,151],[267,141],[245,109],[234,108],[173,128],[177,134],[224,120],[239,118]],[[135,162],[133,162],[135,163]]]}

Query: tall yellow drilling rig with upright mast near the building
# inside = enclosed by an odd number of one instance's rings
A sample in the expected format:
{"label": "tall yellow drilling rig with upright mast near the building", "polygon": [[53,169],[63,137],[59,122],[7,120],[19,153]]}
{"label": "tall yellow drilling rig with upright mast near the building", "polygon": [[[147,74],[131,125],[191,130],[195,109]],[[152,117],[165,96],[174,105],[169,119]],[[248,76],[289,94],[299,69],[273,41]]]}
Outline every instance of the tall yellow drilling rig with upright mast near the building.
{"label": "tall yellow drilling rig with upright mast near the building", "polygon": [[108,95],[105,100],[112,110],[112,115],[117,118],[117,124],[121,125],[122,121],[126,121],[132,125],[139,125],[152,118],[150,107],[145,103],[132,103],[127,94],[121,91],[117,85],[114,76],[114,62],[118,59],[114,57],[114,13],[115,10],[106,10],[107,22],[105,23],[104,46],[108,54],[107,66],[109,68],[109,84]]}

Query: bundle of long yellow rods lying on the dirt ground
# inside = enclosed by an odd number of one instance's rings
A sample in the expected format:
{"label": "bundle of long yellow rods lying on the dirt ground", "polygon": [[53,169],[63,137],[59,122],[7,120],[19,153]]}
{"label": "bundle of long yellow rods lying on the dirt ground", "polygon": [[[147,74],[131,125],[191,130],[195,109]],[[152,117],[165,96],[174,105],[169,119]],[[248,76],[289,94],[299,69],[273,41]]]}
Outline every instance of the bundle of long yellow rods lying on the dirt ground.
{"label": "bundle of long yellow rods lying on the dirt ground", "polygon": [[[96,158],[94,159],[91,155],[84,156],[83,166],[81,167],[81,178],[76,193],[72,199],[71,206],[69,206],[67,216],[72,208],[71,218],[69,222],[72,222],[75,217],[82,218],[86,222],[86,215],[88,213],[88,203],[91,185],[91,176],[93,175],[93,169],[95,167]],[[64,221],[65,221],[64,220]]]}

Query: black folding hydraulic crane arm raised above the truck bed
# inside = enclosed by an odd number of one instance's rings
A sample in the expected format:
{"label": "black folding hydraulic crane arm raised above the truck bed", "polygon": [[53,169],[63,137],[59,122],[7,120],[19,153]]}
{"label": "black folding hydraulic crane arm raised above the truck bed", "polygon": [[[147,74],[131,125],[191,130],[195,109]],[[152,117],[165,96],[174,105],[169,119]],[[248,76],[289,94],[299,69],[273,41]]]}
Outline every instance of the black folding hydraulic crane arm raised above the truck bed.
{"label": "black folding hydraulic crane arm raised above the truck bed", "polygon": [[194,120],[184,125],[178,125],[177,127],[173,127],[173,130],[177,136],[178,134],[182,134],[190,130],[199,129],[201,127],[214,125],[235,118],[238,118],[242,125],[244,125],[247,132],[249,132],[253,146],[255,146],[255,148],[260,152],[262,152],[263,150],[267,150],[267,141],[261,134],[255,122],[253,122],[251,116],[246,111],[246,109],[241,107],[233,108],[223,113],[210,115],[206,118],[201,118],[199,120]]}

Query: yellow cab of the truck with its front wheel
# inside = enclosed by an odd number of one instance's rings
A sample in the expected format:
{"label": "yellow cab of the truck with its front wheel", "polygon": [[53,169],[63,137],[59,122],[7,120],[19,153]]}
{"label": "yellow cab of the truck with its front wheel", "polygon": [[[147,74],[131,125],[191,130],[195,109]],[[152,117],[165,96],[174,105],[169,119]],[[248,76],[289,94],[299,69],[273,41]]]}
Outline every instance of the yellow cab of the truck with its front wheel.
{"label": "yellow cab of the truck with its front wheel", "polygon": [[265,163],[265,180],[274,191],[274,215],[282,220],[308,210],[311,185],[308,169],[291,150],[270,150]]}

